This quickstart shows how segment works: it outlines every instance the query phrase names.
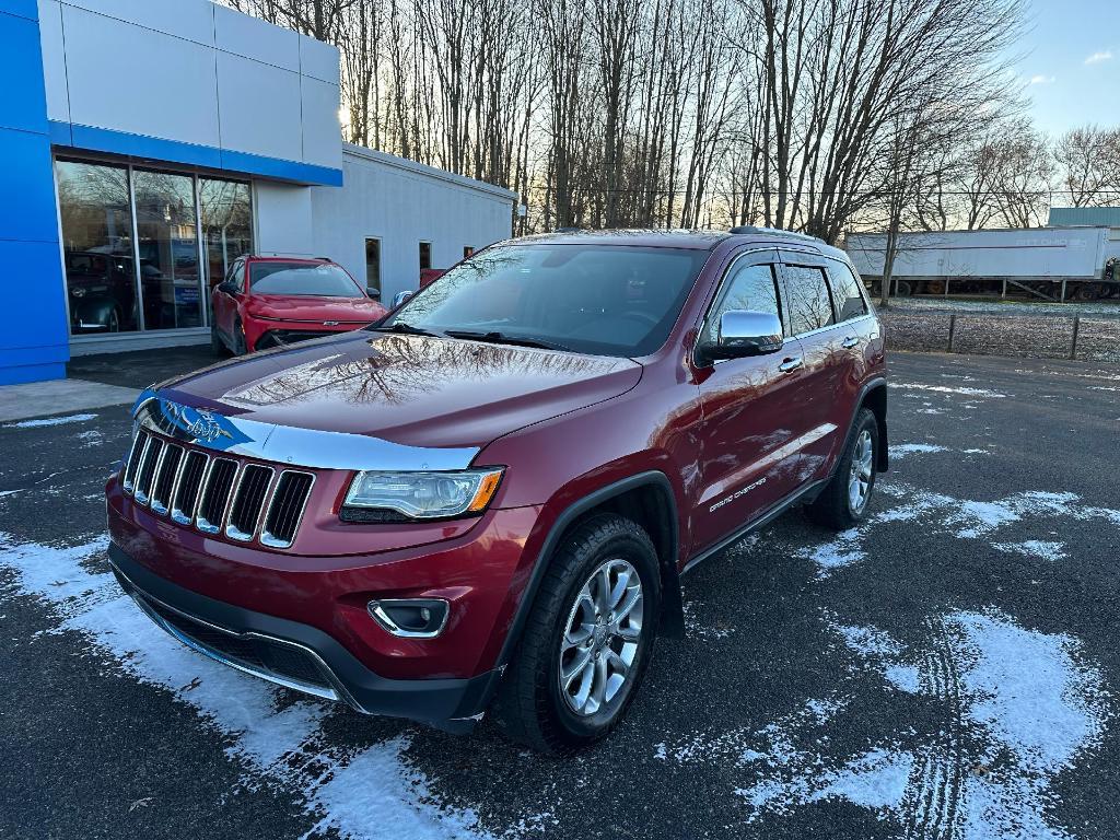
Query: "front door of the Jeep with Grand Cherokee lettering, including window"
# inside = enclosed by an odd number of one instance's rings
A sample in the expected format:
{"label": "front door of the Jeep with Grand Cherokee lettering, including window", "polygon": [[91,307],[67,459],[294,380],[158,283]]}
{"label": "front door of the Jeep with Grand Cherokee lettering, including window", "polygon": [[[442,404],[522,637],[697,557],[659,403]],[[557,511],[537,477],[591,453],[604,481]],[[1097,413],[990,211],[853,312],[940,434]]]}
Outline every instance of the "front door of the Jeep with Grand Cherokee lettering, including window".
{"label": "front door of the Jeep with Grand Cherokee lettering, including window", "polygon": [[[774,250],[739,254],[728,267],[700,328],[713,340],[722,312],[771,311],[785,320]],[[797,483],[799,419],[787,410],[800,356],[796,339],[778,353],[729,358],[699,368],[700,494],[693,520],[703,549],[737,531],[792,493]]]}

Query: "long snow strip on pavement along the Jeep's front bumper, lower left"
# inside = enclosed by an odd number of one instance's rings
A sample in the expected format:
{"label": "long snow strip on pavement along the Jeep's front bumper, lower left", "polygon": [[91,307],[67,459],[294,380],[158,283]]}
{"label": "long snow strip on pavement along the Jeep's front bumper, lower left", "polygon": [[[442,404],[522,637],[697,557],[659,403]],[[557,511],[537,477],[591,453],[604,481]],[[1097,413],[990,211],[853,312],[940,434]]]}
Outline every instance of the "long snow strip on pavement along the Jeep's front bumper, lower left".
{"label": "long snow strip on pavement along the Jeep's front bumper, lower left", "polygon": [[0,532],[0,568],[16,590],[58,616],[52,632],[85,635],[141,682],[170,691],[232,739],[227,754],[249,771],[246,785],[279,784],[305,800],[317,819],[310,833],[408,840],[487,837],[469,809],[441,806],[404,753],[404,734],[362,749],[324,746],[330,707],[299,700],[278,708],[280,689],[192,652],[156,628],[104,568],[104,538],[80,545],[19,542]]}

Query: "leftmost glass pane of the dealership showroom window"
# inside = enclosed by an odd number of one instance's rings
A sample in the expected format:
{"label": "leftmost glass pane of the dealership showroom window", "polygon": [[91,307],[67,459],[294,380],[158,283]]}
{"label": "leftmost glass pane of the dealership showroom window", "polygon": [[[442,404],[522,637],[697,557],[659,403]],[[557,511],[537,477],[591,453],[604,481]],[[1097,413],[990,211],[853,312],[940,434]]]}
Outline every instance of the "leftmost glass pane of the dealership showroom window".
{"label": "leftmost glass pane of the dealership showroom window", "polygon": [[129,172],[58,161],[71,333],[139,329]]}

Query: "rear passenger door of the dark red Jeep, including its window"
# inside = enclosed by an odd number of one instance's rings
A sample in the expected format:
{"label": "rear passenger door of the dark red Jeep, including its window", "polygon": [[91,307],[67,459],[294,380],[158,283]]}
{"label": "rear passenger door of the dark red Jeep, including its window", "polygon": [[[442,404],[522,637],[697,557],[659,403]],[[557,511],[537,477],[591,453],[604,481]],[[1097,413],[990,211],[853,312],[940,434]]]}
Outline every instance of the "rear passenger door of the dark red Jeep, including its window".
{"label": "rear passenger door of the dark red Jeep, including its window", "polygon": [[799,483],[828,475],[851,421],[852,342],[846,323],[838,319],[831,262],[819,254],[782,251],[790,328],[802,352],[797,386],[790,403],[790,409],[802,418]]}

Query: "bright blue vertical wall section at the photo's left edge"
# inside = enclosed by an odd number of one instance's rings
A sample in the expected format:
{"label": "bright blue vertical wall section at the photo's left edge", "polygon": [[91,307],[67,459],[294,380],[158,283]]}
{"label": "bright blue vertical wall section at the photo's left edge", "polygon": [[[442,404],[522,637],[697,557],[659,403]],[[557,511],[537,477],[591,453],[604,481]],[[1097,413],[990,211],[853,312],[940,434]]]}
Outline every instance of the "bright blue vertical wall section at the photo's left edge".
{"label": "bright blue vertical wall section at the photo's left edge", "polygon": [[34,0],[0,0],[0,385],[65,376],[69,358],[35,12]]}

